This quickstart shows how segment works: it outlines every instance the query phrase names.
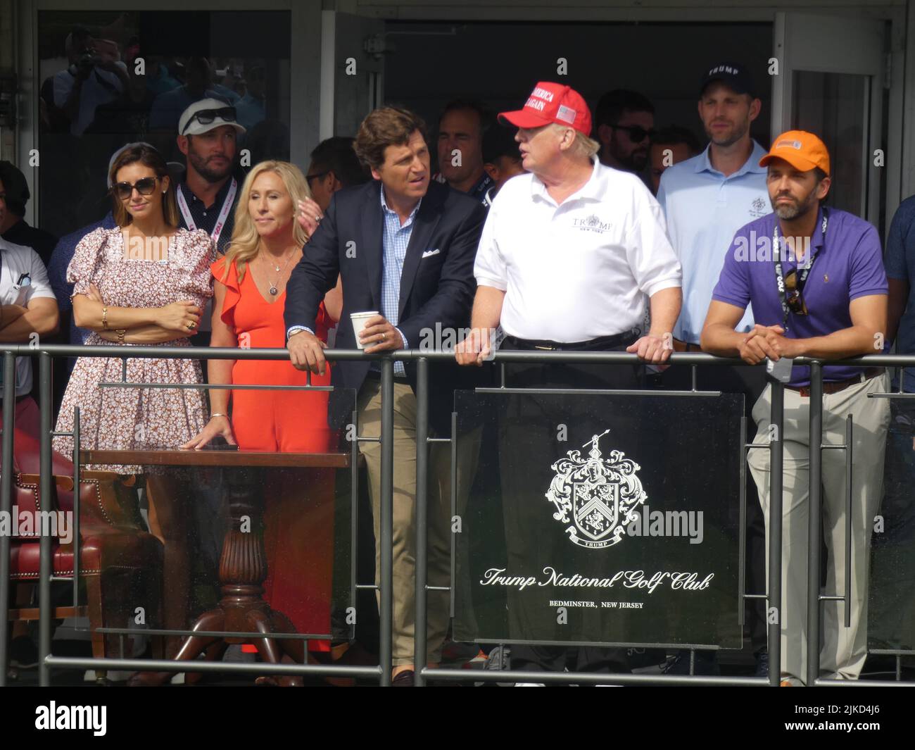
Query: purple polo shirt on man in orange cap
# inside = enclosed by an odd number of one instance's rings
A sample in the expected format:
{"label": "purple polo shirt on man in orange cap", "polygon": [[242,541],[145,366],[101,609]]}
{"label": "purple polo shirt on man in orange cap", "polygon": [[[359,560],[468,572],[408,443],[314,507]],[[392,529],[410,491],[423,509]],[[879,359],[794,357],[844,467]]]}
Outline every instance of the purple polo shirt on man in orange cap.
{"label": "purple polo shirt on man in orange cap", "polygon": [[[775,223],[775,214],[770,213],[737,232],[725,255],[712,299],[738,308],[751,304],[760,325],[784,325],[786,337],[809,339],[850,328],[848,306],[853,299],[887,294],[887,275],[877,230],[851,213],[829,209],[829,224],[823,237],[823,209],[820,209],[810,243],[813,266],[803,288],[809,314],[789,312],[785,321],[772,257]],[[797,259],[793,253],[787,253],[781,238],[779,245],[781,271],[787,277],[792,268],[798,267]],[[827,365],[823,367],[823,380],[848,380],[860,373],[860,367]],[[810,367],[792,368],[789,385],[809,383]]]}

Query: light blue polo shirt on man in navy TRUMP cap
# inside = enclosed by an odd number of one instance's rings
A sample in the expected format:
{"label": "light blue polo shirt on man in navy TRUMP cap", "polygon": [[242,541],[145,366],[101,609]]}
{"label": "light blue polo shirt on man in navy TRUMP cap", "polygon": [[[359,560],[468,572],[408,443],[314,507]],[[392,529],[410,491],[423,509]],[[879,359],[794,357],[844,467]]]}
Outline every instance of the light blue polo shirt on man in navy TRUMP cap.
{"label": "light blue polo shirt on man in navy TRUMP cap", "polygon": [[[766,168],[759,159],[766,149],[753,141],[753,152],[731,175],[712,167],[709,147],[698,156],[664,170],[658,202],[667,219],[667,234],[683,266],[683,309],[674,338],[698,343],[725,253],[734,233],[771,212]],[[737,331],[753,328],[750,310]]]}

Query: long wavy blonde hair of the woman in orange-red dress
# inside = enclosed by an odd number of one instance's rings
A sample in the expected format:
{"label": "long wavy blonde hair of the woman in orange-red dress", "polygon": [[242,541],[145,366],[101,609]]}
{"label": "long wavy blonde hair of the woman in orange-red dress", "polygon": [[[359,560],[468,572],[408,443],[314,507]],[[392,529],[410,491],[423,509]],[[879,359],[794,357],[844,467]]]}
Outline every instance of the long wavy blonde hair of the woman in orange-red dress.
{"label": "long wavy blonde hair of the woman in orange-red dress", "polygon": [[264,172],[274,172],[279,175],[279,178],[283,180],[286,192],[289,193],[289,197],[292,199],[294,208],[292,219],[293,238],[296,240],[296,244],[305,245],[308,241],[307,232],[296,219],[298,201],[311,198],[311,190],[308,190],[308,181],[305,179],[305,175],[295,164],[290,164],[288,161],[262,161],[248,172],[248,176],[244,179],[244,184],[242,184],[238,205],[235,207],[235,227],[231,233],[231,244],[225,255],[225,270],[221,278],[222,281],[225,281],[226,277],[228,277],[229,266],[234,262],[235,267],[238,269],[238,280],[241,283],[244,278],[245,266],[253,261],[259,252],[261,238],[257,234],[251,213],[248,211],[248,201],[251,198],[254,180]]}

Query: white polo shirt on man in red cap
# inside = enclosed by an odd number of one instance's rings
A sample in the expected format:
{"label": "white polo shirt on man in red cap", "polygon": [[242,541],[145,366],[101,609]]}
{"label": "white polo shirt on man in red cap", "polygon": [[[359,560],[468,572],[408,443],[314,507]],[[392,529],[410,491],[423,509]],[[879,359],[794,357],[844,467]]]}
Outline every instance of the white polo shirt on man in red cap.
{"label": "white polo shirt on man in red cap", "polygon": [[492,201],[474,266],[505,292],[501,326],[521,339],[583,342],[641,329],[647,300],[680,286],[661,206],[641,180],[595,159],[562,205],[533,174]]}

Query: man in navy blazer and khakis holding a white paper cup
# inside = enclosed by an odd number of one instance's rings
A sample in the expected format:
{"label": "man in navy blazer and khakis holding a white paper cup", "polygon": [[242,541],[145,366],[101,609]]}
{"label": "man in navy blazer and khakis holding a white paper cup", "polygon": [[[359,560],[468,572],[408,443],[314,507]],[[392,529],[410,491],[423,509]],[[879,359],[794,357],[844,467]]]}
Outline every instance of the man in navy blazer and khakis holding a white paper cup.
{"label": "man in navy blazer and khakis holding a white paper cup", "polygon": [[[485,211],[479,201],[430,180],[425,125],[415,114],[382,107],[362,121],[354,148],[373,181],[339,190],[286,285],[286,347],[301,370],[323,373],[323,344],[314,335],[318,305],[343,284],[343,313],[336,346],[355,349],[350,314],[377,310],[366,321],[361,343],[367,353],[425,348],[439,336],[458,336],[469,324],[476,291],[473,264]],[[454,341],[454,339],[452,339]],[[436,346],[436,348],[439,348]],[[448,415],[457,368],[430,367],[430,421],[450,432]],[[332,369],[329,421],[350,421],[357,393],[361,436],[381,432],[378,363],[339,362]],[[393,498],[393,684],[414,679],[414,503],[416,489],[416,399],[414,364],[394,364]],[[430,450],[428,583],[448,586],[449,455]],[[375,523],[376,571],[380,569],[381,447],[361,443],[369,474]],[[460,462],[458,462],[460,471]],[[430,591],[427,663],[436,664],[447,632],[447,592]]]}

